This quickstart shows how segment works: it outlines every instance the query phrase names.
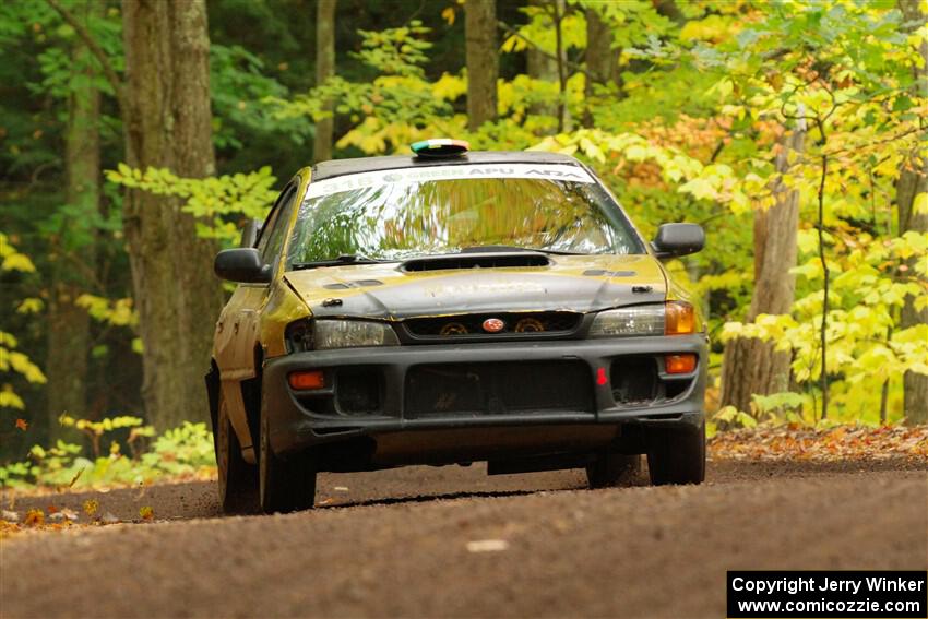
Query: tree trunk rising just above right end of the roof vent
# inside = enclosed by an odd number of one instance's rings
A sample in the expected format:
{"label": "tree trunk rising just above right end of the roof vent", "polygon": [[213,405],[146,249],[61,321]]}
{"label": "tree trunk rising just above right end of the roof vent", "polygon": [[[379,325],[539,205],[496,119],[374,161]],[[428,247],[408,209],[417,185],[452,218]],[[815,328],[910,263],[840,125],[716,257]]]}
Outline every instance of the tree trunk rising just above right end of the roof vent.
{"label": "tree trunk rising just above right end of the roof vent", "polygon": [[476,131],[497,116],[496,0],[466,0],[464,35],[467,52],[467,127]]}

